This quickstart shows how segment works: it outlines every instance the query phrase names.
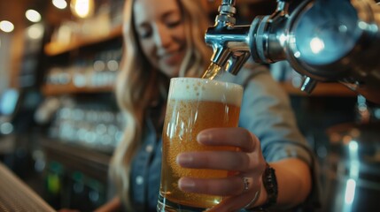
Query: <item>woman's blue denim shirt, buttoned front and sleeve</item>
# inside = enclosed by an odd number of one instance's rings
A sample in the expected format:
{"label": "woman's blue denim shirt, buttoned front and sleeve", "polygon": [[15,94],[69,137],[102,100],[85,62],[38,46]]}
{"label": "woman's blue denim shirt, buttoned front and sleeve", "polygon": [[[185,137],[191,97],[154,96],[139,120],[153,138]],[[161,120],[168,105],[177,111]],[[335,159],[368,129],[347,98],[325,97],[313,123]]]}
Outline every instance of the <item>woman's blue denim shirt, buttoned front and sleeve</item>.
{"label": "woman's blue denim shirt, buttoned front and sleeve", "polygon": [[[252,72],[241,71],[237,77],[223,76],[244,86],[239,126],[254,133],[261,143],[267,162],[298,157],[315,169],[312,151],[299,133],[288,95],[264,66]],[[147,121],[143,144],[131,167],[131,200],[134,211],[156,211],[161,168],[161,132]],[[314,174],[314,181],[316,177]],[[314,189],[311,199],[317,196]],[[310,198],[309,198],[310,199]],[[244,211],[244,210],[242,210]]]}

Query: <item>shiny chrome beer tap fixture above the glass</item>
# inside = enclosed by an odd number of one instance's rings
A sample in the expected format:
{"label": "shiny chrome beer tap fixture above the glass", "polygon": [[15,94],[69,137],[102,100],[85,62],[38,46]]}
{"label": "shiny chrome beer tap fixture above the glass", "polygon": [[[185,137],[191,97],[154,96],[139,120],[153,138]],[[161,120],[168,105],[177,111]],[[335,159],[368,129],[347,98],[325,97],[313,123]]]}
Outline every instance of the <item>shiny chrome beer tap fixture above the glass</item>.
{"label": "shiny chrome beer tap fixture above the glass", "polygon": [[260,64],[286,60],[305,76],[301,89],[308,93],[318,81],[337,81],[380,103],[380,5],[373,0],[299,2],[277,0],[273,14],[235,26],[236,2],[223,0],[205,36],[213,47],[212,63],[237,74],[250,56]]}

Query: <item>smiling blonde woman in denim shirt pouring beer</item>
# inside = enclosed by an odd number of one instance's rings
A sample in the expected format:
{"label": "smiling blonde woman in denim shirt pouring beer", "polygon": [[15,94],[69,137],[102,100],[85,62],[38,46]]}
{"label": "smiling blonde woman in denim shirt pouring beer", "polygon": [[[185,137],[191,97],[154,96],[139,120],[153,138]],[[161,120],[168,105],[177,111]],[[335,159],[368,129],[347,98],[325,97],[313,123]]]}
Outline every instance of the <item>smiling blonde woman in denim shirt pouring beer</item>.
{"label": "smiling blonde woman in denim shirt pouring beer", "polygon": [[[128,0],[124,14],[126,48],[116,94],[127,127],[110,170],[118,195],[98,211],[156,211],[169,79],[200,77],[206,70],[211,57],[204,42],[208,18],[200,0]],[[233,78],[244,85],[240,127],[198,134],[200,143],[237,146],[242,152],[177,157],[187,168],[238,169],[239,176],[231,178],[179,181],[183,191],[227,197],[209,211],[249,209],[268,200],[275,203],[271,208],[294,208],[312,193],[314,160],[297,130],[289,100],[267,69],[251,69]],[[210,160],[224,163],[205,163]],[[269,193],[262,182],[267,163],[275,170],[277,194]],[[245,181],[248,178],[251,181]]]}

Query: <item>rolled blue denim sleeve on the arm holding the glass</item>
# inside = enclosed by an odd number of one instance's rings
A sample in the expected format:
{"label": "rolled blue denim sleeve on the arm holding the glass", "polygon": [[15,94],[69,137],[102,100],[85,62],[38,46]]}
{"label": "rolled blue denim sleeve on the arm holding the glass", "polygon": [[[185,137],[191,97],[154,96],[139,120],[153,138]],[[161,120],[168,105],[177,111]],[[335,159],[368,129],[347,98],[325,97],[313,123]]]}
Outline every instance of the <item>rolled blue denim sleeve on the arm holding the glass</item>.
{"label": "rolled blue denim sleeve on the arm holding the glass", "polygon": [[251,75],[245,73],[243,80],[244,96],[239,125],[259,138],[266,161],[275,162],[296,157],[309,165],[313,176],[313,190],[304,205],[307,208],[318,206],[318,163],[312,149],[299,132],[289,96],[268,70]]}

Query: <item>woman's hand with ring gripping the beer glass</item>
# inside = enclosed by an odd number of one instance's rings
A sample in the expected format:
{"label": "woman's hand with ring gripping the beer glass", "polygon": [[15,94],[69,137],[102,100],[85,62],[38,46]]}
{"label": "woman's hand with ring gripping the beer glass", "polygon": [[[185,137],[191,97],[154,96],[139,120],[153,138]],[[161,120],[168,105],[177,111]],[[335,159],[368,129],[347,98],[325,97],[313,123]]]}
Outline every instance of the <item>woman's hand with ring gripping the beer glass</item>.
{"label": "woman's hand with ring gripping the beer glass", "polygon": [[[184,192],[223,196],[223,201],[207,211],[236,211],[244,208],[261,189],[261,175],[266,161],[260,141],[244,128],[213,128],[198,134],[198,142],[206,146],[229,146],[240,151],[186,152],[177,156],[183,168],[215,169],[237,172],[227,178],[181,178]],[[247,183],[244,183],[244,179]]]}

